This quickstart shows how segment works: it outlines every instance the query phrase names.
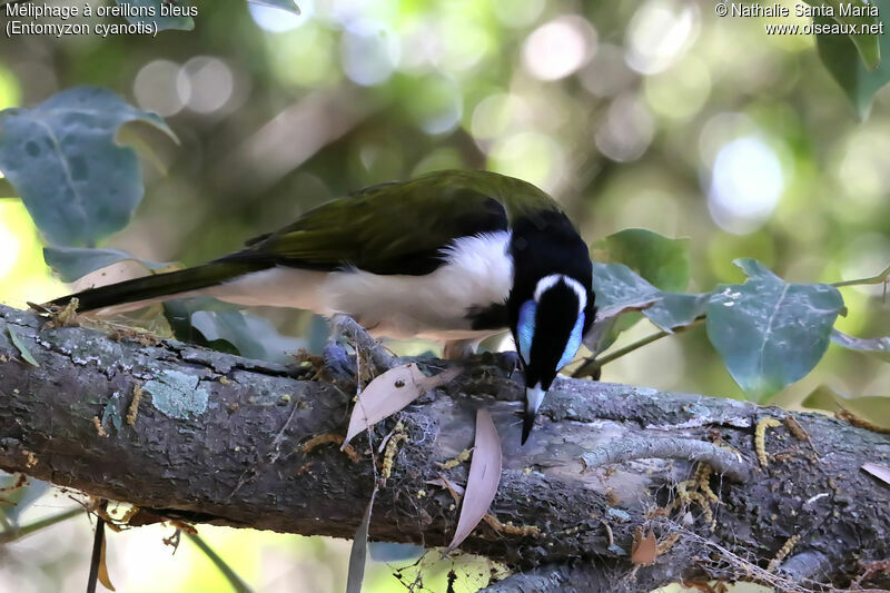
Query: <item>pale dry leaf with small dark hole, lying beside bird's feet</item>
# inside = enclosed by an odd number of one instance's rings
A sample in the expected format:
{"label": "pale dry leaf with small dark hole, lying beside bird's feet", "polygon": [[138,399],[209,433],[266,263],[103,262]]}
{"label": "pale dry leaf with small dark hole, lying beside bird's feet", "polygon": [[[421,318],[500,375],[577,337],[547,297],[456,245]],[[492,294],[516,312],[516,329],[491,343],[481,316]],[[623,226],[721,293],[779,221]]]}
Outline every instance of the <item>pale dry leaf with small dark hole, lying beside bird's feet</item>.
{"label": "pale dry leaf with small dark hole, lying beside bird's feet", "polygon": [[392,416],[426,392],[435,389],[459,374],[459,367],[452,367],[427,377],[415,363],[390,368],[372,380],[358,396],[353,415],[349,417],[344,446],[362,431]]}

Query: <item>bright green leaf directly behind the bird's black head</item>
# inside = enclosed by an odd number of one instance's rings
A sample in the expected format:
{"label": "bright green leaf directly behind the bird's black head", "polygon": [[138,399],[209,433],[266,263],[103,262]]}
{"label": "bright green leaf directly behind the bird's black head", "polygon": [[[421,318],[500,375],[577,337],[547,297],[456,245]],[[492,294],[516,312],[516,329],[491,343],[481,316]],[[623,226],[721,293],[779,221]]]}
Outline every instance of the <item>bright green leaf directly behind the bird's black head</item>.
{"label": "bright green leaf directly behind the bird's black head", "polygon": [[[662,290],[686,289],[690,275],[689,239],[669,239],[642,228],[629,228],[593,244],[593,259],[624,264]],[[594,281],[596,273],[594,271]]]}

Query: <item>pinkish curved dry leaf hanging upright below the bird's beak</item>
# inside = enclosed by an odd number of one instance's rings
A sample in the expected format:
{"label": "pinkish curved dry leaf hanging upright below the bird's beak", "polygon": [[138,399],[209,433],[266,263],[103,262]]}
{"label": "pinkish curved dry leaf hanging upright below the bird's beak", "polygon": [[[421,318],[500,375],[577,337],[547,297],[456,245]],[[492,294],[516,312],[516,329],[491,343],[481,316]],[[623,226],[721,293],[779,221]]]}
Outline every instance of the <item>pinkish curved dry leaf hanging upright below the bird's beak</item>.
{"label": "pinkish curved dry leaf hanging upright below the bird's beak", "polygon": [[476,438],[461,516],[448,552],[461,545],[492,506],[501,483],[501,438],[487,409],[476,412]]}

